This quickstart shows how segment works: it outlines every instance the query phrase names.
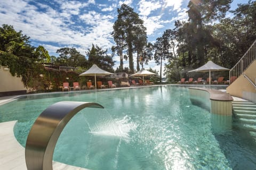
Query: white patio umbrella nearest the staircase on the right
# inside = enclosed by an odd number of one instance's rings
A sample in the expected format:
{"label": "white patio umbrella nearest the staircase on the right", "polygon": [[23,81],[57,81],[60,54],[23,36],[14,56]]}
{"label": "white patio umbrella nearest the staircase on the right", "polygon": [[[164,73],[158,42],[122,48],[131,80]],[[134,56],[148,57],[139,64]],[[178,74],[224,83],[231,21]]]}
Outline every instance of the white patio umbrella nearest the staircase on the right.
{"label": "white patio umbrella nearest the staircase on the right", "polygon": [[211,85],[211,71],[225,71],[225,70],[230,70],[230,69],[219,66],[219,65],[213,63],[212,61],[209,61],[206,64],[204,64],[203,66],[201,66],[195,70],[191,70],[189,72],[209,72],[209,84]]}

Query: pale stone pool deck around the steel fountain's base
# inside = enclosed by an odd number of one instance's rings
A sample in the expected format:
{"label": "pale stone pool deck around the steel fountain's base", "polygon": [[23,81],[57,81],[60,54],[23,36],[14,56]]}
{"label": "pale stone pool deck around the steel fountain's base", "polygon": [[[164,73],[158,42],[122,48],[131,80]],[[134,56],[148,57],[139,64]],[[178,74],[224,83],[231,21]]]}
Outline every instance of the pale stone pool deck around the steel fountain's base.
{"label": "pale stone pool deck around the steel fountain's base", "polygon": [[[27,170],[25,162],[25,148],[23,148],[14,136],[13,128],[17,121],[0,123],[0,167],[1,169]],[[80,169],[82,167],[71,166],[53,161],[53,169]]]}

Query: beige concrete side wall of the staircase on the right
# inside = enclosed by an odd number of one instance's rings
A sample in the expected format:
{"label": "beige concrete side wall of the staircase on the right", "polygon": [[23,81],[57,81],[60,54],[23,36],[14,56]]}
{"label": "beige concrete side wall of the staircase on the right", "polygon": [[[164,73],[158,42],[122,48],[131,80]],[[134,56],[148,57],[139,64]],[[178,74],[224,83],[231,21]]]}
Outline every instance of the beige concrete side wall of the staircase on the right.
{"label": "beige concrete side wall of the staircase on the right", "polygon": [[[254,84],[256,83],[256,60],[254,60],[244,73]],[[244,98],[256,103],[256,89],[243,75],[240,75],[227,87],[227,92],[232,96]]]}

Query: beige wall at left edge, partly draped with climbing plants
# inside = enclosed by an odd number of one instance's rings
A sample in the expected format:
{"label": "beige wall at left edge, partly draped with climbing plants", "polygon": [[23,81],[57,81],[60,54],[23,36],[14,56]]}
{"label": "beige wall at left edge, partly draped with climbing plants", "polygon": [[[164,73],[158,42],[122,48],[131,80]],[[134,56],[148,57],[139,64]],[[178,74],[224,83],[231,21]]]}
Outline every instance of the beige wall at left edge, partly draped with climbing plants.
{"label": "beige wall at left edge, partly draped with climbing plants", "polygon": [[21,78],[13,77],[9,70],[4,70],[5,68],[0,68],[0,92],[27,90]]}

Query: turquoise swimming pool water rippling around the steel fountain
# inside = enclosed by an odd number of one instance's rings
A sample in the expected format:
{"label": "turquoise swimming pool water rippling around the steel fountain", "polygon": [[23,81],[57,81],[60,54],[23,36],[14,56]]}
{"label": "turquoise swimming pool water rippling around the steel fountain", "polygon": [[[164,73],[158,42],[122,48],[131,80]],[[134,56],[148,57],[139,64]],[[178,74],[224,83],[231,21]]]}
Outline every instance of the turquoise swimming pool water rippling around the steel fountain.
{"label": "turquoise swimming pool water rippling around the steel fountain", "polygon": [[[22,146],[37,116],[58,101],[92,101],[61,133],[53,159],[89,169],[255,169],[248,132],[191,104],[186,87],[160,86],[33,95],[0,107],[0,121],[18,120]],[[225,117],[226,118],[226,117]]]}

